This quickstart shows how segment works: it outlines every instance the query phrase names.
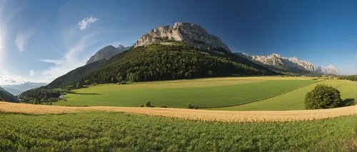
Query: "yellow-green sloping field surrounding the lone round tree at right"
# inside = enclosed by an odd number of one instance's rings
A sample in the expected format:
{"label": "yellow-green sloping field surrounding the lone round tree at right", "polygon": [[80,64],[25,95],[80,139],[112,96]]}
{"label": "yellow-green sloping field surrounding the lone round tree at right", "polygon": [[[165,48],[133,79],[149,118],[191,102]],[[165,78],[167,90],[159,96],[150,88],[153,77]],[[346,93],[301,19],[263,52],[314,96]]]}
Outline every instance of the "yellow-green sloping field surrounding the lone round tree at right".
{"label": "yellow-green sloping field surrounding the lone round tree at right", "polygon": [[[318,82],[320,84],[327,84],[338,88],[341,91],[341,98],[344,100],[356,98],[356,82],[347,80],[326,80]],[[303,104],[305,95],[311,91],[316,83],[303,88],[298,88],[295,91],[282,94],[273,98],[268,98],[263,101],[243,104],[241,106],[231,106],[224,108],[213,108],[214,110],[228,110],[228,111],[287,111],[305,109]]]}

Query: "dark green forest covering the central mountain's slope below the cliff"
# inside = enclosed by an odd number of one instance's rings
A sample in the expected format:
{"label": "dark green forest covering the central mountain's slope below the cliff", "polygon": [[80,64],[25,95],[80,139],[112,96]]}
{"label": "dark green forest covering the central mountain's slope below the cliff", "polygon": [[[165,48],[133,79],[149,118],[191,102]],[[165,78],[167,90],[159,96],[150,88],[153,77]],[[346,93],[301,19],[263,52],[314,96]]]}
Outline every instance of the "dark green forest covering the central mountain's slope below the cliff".
{"label": "dark green forest covering the central mountain's slope below the cliff", "polygon": [[109,64],[86,76],[81,84],[121,81],[158,81],[213,76],[262,75],[220,54],[196,51],[191,46],[139,46],[114,56]]}

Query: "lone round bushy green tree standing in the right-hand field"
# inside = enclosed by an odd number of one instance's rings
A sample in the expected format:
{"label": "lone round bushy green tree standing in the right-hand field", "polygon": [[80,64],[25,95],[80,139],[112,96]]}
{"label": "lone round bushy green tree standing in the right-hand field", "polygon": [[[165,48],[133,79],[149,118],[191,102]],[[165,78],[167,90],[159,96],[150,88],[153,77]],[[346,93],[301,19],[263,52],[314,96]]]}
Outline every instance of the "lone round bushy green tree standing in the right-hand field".
{"label": "lone round bushy green tree standing in the right-hand field", "polygon": [[337,88],[326,85],[317,85],[305,96],[306,109],[337,108],[343,101]]}

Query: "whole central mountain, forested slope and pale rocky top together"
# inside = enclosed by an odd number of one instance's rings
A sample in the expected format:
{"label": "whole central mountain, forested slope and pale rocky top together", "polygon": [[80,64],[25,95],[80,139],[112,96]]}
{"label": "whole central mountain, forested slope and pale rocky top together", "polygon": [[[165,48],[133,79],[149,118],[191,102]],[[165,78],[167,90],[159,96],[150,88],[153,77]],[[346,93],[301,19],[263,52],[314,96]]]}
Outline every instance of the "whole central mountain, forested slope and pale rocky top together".
{"label": "whole central mountain, forested slope and pale rocky top together", "polygon": [[159,26],[134,48],[111,58],[81,83],[156,81],[213,76],[272,75],[275,72],[236,54],[197,24]]}

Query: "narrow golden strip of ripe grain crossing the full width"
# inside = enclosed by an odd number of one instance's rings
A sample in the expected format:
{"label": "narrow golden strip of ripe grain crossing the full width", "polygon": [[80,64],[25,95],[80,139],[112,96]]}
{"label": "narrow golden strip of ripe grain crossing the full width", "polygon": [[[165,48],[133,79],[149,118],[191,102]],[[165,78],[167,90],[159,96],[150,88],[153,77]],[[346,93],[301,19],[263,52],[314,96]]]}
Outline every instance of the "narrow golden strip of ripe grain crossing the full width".
{"label": "narrow golden strip of ripe grain crossing the full width", "polygon": [[137,108],[115,106],[45,106],[26,103],[0,102],[0,112],[28,114],[76,113],[81,111],[121,111],[149,116],[167,116],[186,120],[221,122],[285,122],[312,121],[357,114],[357,106],[300,111],[209,111],[184,108]]}

